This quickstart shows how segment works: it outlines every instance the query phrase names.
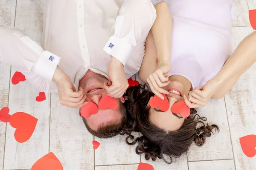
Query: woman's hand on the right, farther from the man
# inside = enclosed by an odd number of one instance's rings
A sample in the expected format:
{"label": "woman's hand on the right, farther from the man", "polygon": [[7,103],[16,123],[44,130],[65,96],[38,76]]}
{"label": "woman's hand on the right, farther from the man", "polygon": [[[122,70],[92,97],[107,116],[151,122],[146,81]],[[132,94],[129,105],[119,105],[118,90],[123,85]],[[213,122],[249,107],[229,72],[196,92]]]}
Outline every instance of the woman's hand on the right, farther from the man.
{"label": "woman's hand on the right, farther from the man", "polygon": [[189,108],[202,108],[215,94],[218,85],[213,80],[209,80],[204,86],[194,88],[189,92],[189,97],[184,96],[184,100]]}

